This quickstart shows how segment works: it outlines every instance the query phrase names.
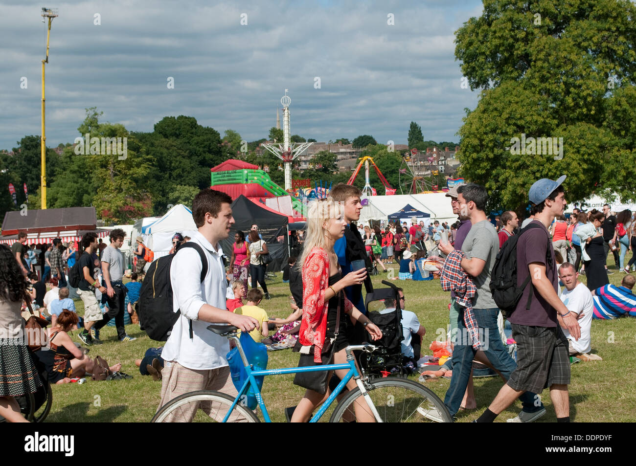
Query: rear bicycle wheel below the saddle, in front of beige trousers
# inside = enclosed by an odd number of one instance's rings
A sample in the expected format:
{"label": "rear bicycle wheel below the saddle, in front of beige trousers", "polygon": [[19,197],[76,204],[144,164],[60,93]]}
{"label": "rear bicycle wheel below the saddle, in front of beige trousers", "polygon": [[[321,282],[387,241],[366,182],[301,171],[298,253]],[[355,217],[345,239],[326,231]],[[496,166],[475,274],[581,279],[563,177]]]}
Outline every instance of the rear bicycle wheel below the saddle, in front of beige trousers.
{"label": "rear bicycle wheel below the saddle, in front of beige trousers", "polygon": [[[179,395],[157,411],[152,422],[221,422],[232,408],[230,395],[198,390]],[[252,411],[237,404],[228,422],[259,422]]]}

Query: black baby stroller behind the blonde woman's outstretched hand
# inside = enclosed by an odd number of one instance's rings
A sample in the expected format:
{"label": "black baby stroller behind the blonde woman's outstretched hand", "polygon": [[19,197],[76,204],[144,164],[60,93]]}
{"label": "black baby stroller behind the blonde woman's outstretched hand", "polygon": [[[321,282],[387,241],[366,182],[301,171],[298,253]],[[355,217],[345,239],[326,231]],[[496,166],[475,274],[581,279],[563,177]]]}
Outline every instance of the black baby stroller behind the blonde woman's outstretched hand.
{"label": "black baby stroller behind the blonde woman's outstretched hand", "polygon": [[367,317],[382,331],[382,338],[373,341],[373,344],[382,348],[373,353],[363,353],[360,366],[371,377],[404,376],[408,371],[404,368],[406,358],[402,355],[404,334],[399,294],[396,285],[387,280],[382,280],[382,283],[389,288],[374,289],[366,294],[365,300]]}

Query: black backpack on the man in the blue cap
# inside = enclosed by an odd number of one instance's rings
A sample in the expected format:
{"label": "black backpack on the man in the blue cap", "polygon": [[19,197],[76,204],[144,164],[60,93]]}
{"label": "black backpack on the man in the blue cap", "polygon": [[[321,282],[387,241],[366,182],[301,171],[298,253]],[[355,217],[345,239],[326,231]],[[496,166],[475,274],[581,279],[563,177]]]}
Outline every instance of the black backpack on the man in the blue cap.
{"label": "black backpack on the man in the blue cap", "polygon": [[[523,284],[517,285],[517,261],[516,261],[516,247],[519,238],[523,233],[532,229],[541,228],[540,225],[530,222],[518,235],[510,236],[508,240],[502,245],[495,264],[490,272],[490,292],[492,298],[495,300],[497,307],[501,309],[504,317],[510,317],[515,312],[516,305],[521,299],[523,290],[530,284],[530,294],[528,295],[528,301],[525,308],[530,309],[530,303],[532,303],[532,277],[528,277],[523,281]],[[552,265],[552,257],[550,254],[550,238],[548,237],[548,250],[546,252],[546,268]]]}

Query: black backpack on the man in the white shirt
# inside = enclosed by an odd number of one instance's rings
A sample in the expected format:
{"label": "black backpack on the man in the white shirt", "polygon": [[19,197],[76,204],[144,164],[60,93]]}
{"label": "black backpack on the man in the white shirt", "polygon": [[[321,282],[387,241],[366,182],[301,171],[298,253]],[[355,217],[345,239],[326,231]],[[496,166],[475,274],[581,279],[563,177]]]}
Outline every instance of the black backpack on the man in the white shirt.
{"label": "black backpack on the man in the white shirt", "polygon": [[[191,247],[196,249],[203,264],[201,283],[207,275],[207,258],[203,249],[195,242],[188,241],[179,246],[179,250]],[[177,251],[178,252],[178,251]],[[181,312],[172,308],[172,284],[170,283],[170,264],[175,254],[162,256],[150,264],[146,277],[139,291],[139,301],[135,305],[139,327],[156,341],[166,341],[170,336]],[[190,338],[192,338],[192,321],[190,320]]]}

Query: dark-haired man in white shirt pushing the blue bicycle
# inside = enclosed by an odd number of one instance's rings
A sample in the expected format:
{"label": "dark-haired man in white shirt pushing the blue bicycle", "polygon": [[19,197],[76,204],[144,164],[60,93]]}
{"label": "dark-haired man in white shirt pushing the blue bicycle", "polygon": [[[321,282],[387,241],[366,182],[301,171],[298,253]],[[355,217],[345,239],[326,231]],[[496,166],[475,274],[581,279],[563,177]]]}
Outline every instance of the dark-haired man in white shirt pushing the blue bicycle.
{"label": "dark-haired man in white shirt pushing the blue bicycle", "polygon": [[[190,241],[202,247],[208,263],[203,283],[200,282],[203,265],[197,250],[179,249],[172,259],[173,306],[175,312],[181,310],[181,315],[163,346],[160,408],[195,390],[237,395],[226,360],[230,351],[228,339],[207,329],[211,322],[227,323],[251,332],[258,324],[253,317],[229,312],[225,307],[227,282],[219,242],[228,237],[234,223],[231,203],[230,196],[214,189],[203,189],[192,202],[192,217],[198,231]],[[190,338],[190,320],[193,338]],[[196,409],[187,405],[172,413],[168,421],[191,421]]]}

